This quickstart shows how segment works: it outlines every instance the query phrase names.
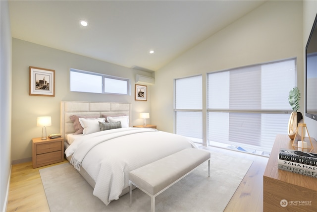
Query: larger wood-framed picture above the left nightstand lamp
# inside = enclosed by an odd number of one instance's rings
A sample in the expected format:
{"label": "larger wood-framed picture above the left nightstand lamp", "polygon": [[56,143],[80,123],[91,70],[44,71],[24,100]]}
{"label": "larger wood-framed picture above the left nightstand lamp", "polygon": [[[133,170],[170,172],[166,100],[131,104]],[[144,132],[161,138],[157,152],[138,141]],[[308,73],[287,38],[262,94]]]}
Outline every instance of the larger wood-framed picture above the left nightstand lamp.
{"label": "larger wood-framed picture above the left nightstand lamp", "polygon": [[30,96],[55,96],[55,71],[30,66]]}

